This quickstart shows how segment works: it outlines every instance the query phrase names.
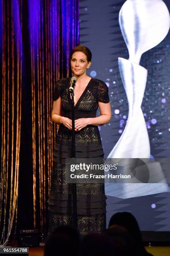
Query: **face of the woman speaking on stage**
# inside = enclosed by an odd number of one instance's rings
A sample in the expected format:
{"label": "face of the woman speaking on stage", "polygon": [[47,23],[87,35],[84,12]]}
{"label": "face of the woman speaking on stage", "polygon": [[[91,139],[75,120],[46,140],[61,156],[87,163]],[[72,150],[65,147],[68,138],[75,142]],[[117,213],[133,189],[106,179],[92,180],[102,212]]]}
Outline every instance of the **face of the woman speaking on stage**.
{"label": "face of the woman speaking on stage", "polygon": [[86,73],[86,69],[91,65],[91,61],[87,61],[87,56],[82,51],[76,51],[72,54],[71,69],[72,73],[77,77]]}

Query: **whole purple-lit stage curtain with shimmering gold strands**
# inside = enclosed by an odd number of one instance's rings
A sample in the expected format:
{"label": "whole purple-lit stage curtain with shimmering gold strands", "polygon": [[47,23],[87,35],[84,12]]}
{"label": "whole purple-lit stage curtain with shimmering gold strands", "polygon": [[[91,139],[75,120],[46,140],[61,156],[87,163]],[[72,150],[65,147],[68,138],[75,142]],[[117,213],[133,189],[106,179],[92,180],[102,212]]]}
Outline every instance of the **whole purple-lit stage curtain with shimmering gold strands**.
{"label": "whole purple-lit stage curtain with shimmering gold strands", "polygon": [[47,232],[55,82],[71,75],[78,0],[0,0],[0,243],[19,229]]}

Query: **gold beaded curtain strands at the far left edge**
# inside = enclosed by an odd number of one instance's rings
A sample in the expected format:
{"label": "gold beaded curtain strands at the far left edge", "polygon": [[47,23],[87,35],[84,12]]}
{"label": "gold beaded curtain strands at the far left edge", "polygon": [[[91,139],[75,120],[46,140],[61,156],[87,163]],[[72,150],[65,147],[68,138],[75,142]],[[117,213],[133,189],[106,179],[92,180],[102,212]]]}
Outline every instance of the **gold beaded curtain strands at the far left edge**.
{"label": "gold beaded curtain strands at the far left edge", "polygon": [[[2,166],[0,173],[0,227],[2,234],[0,243],[6,244],[12,229],[14,228],[16,231],[18,214],[22,51],[18,36],[19,23],[16,24],[16,37],[14,38],[13,2],[11,5],[9,1],[2,2],[2,4]],[[20,7],[22,8],[22,2]],[[22,16],[20,26],[22,27]]]}

